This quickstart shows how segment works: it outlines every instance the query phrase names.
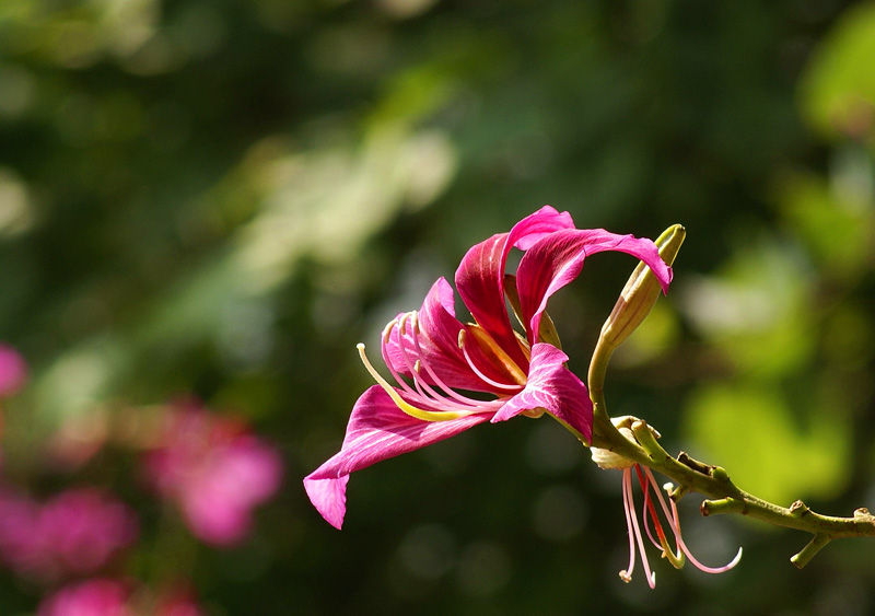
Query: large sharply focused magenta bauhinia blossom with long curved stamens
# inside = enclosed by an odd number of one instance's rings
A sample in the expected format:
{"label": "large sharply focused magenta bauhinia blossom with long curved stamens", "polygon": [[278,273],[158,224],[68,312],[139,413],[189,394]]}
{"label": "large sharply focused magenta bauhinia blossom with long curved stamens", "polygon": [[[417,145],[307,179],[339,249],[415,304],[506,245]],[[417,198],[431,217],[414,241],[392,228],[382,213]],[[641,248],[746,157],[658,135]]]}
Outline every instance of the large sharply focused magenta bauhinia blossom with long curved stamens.
{"label": "large sharply focused magenta bauhinia blossom with long curved stamens", "polygon": [[[513,248],[524,252],[515,277],[505,272]],[[458,321],[453,289],[441,278],[419,311],[386,326],[381,355],[395,385],[359,345],[377,384],[355,403],[340,452],[304,479],[319,513],[340,528],[350,473],[487,421],[547,412],[588,444],[593,405],[565,367],[569,358],[545,311],[550,297],[580,275],[584,259],[605,251],[641,259],[667,289],[672,270],[651,240],[575,229],[568,212],[546,206],[465,255],[455,282],[471,323]],[[509,301],[523,332],[511,325]]]}

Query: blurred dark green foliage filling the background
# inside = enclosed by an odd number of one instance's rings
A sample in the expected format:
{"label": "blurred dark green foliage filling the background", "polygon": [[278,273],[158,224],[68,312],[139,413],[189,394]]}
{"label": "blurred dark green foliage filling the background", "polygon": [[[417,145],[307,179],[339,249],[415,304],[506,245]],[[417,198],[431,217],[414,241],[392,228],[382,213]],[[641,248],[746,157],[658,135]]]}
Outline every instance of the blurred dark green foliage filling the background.
{"label": "blurred dark green foliage filling the background", "polygon": [[[300,478],[370,384],[354,344],[548,202],[688,231],[612,414],[780,503],[875,507],[873,42],[841,0],[0,3],[0,338],[32,370],[3,481],[115,490],[143,526],[121,569],[160,580],[171,534],[211,614],[870,613],[868,542],[798,572],[807,537],[695,499],[688,543],[742,565],[622,584],[619,476],[547,420],[360,473],[340,533]],[[579,374],[633,267],[552,304]],[[70,421],[179,395],[282,450],[237,547],[160,526],[125,455],[47,462]],[[0,611],[45,592],[4,574]]]}

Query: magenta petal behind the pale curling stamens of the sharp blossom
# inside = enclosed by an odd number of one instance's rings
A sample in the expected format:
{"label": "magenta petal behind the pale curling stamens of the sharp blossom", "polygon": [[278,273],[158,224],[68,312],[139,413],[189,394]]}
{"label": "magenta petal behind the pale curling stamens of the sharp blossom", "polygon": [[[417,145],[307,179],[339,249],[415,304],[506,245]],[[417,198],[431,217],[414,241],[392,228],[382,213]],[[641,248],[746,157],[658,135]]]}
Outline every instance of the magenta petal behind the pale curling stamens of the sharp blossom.
{"label": "magenta petal behind the pale curling stamens of the sharp blossom", "polygon": [[[413,341],[411,323],[408,322],[406,326],[404,350],[407,352],[407,359],[401,353],[398,328],[394,328],[389,335],[386,355],[396,371],[405,376],[411,376],[410,370],[407,368],[408,362],[412,363],[420,359],[422,364],[428,364],[428,368],[451,387],[472,392],[502,393],[501,390],[492,387],[471,370],[465,355],[459,349],[458,333],[465,329],[465,326],[456,318],[455,295],[445,278],[440,278],[432,284],[429,294],[425,295],[425,301],[422,302],[418,318],[420,330],[418,348]],[[477,368],[489,379],[500,383],[513,383],[509,374],[499,371],[495,362],[483,356],[477,344],[468,345],[468,353]],[[420,370],[418,379],[434,384],[434,379],[430,375],[429,370],[424,369],[424,365]]]}

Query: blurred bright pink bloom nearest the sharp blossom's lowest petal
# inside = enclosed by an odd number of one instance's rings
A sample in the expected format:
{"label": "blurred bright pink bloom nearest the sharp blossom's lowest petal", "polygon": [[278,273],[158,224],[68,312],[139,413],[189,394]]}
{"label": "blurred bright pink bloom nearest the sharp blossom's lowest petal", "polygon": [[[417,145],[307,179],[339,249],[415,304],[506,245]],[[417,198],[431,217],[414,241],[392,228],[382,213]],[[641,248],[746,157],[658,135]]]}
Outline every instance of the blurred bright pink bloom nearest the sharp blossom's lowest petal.
{"label": "blurred bright pink bloom nearest the sharp blossom's lowest petal", "polygon": [[245,537],[252,510],[279,488],[277,451],[238,421],[190,405],[171,409],[160,442],[145,457],[147,475],[191,532],[219,546]]}

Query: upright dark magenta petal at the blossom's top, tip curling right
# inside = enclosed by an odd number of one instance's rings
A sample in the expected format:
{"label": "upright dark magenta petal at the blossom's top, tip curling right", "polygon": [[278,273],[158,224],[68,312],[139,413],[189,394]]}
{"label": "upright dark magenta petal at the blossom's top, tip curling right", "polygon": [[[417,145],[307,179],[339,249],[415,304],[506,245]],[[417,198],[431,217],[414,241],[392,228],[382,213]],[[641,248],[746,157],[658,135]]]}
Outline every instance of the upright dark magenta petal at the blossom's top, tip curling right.
{"label": "upright dark magenta petal at the blossom's top, tip curling right", "polygon": [[557,231],[573,229],[568,212],[544,206],[517,222],[510,233],[499,233],[471,247],[456,270],[456,289],[474,319],[525,370],[528,361],[513,333],[504,303],[504,267],[512,247],[528,249]]}

